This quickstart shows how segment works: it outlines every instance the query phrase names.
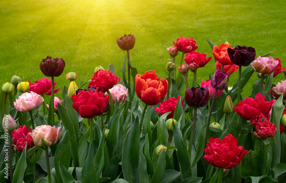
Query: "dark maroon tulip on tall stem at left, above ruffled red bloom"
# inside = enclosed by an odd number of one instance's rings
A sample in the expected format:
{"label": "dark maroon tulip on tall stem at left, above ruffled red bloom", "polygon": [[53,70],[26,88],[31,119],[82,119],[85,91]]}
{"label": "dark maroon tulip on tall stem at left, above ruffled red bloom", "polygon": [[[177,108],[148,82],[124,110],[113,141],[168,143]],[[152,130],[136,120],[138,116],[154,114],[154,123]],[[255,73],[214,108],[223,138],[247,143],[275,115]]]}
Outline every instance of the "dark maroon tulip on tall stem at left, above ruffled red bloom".
{"label": "dark maroon tulip on tall stem at left, above ruffled red bloom", "polygon": [[40,69],[45,76],[55,76],[58,77],[63,73],[63,69],[65,68],[65,61],[62,58],[51,58],[47,56],[47,58],[43,59],[40,63]]}

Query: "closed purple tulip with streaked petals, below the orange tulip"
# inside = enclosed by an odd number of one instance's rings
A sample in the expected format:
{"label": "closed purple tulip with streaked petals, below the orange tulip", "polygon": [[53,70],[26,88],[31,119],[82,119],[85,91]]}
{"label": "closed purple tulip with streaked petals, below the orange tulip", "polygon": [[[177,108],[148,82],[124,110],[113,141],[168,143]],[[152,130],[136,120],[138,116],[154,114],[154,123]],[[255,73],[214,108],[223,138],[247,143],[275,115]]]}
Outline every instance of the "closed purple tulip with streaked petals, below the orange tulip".
{"label": "closed purple tulip with streaked petals, below the orange tulip", "polygon": [[225,88],[227,88],[228,82],[229,82],[229,74],[227,74],[225,71],[218,69],[215,71],[215,74],[212,76],[212,80],[210,81],[210,84],[215,89],[224,90]]}

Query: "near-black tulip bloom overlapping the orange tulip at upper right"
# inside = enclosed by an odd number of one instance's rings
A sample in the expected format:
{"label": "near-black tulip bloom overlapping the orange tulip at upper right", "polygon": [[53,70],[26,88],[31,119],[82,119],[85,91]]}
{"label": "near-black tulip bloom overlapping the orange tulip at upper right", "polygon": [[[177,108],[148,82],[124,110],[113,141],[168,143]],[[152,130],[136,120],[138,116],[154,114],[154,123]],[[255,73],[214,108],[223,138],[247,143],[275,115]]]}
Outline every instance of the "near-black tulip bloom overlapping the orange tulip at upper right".
{"label": "near-black tulip bloom overlapping the orange tulip at upper right", "polygon": [[235,48],[227,48],[227,53],[231,62],[238,66],[249,66],[255,60],[255,49],[246,46],[236,46]]}

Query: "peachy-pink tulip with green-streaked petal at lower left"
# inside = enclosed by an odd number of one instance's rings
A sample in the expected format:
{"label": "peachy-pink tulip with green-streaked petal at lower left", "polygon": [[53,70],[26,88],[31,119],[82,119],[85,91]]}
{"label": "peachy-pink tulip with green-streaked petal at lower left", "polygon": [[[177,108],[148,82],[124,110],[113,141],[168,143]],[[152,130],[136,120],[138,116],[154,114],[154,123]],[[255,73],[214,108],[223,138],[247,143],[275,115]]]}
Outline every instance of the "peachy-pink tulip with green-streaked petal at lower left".
{"label": "peachy-pink tulip with green-streaked petal at lower left", "polygon": [[[39,147],[54,145],[59,139],[61,127],[50,125],[37,126],[33,131],[33,140]],[[42,139],[43,138],[43,139]]]}

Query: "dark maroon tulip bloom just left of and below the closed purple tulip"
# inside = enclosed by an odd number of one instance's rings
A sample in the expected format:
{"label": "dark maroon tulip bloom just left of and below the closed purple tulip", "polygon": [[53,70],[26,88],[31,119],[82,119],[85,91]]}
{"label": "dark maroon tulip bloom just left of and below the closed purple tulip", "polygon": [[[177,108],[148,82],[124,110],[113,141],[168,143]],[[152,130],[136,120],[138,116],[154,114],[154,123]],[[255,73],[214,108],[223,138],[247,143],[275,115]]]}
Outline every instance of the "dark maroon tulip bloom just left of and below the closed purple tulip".
{"label": "dark maroon tulip bloom just left of and below the closed purple tulip", "polygon": [[204,107],[209,99],[208,88],[187,88],[185,101],[190,107]]}

